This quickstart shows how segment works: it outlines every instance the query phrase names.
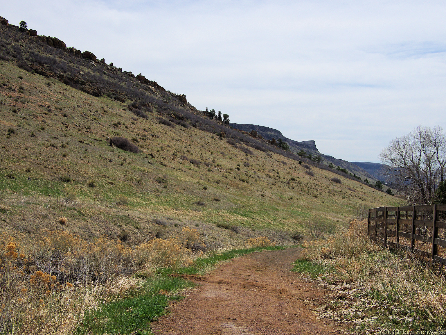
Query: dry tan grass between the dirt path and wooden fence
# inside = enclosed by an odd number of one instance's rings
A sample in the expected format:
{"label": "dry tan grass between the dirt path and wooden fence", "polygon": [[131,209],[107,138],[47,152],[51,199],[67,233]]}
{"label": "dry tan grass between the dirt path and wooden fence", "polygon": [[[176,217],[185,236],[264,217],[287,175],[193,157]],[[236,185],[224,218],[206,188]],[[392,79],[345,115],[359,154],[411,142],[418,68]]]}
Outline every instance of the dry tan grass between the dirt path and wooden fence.
{"label": "dry tan grass between the dirt path and wooden fence", "polygon": [[[408,253],[393,253],[370,241],[367,220],[354,220],[345,233],[302,246],[304,250],[294,271],[311,274],[318,268],[319,278],[329,278],[339,285],[355,283],[362,292],[361,297],[373,301],[362,307],[355,306],[368,316],[367,322],[355,321],[362,324],[360,327],[399,325],[405,329],[434,329],[445,326],[444,273],[434,270],[426,260]],[[354,321],[355,317],[339,310],[339,306],[336,313],[338,319]]]}

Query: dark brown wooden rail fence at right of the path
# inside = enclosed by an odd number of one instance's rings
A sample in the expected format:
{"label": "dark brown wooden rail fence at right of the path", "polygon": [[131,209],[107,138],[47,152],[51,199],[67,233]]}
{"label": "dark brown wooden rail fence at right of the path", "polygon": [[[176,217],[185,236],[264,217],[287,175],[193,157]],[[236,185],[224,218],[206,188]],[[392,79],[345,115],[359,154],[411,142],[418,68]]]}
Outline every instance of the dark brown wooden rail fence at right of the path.
{"label": "dark brown wooden rail fence at right of the path", "polygon": [[368,236],[384,248],[409,251],[446,265],[446,205],[369,209]]}

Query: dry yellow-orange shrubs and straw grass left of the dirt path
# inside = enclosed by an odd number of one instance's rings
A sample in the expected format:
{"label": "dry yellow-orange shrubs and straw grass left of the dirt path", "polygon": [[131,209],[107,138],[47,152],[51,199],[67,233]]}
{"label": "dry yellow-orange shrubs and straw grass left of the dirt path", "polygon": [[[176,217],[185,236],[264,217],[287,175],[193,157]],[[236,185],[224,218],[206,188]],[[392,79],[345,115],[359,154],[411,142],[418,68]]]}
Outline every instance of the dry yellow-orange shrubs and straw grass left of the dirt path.
{"label": "dry yellow-orange shrubs and straw grass left of the dirt path", "polygon": [[155,239],[135,250],[103,236],[87,242],[66,231],[46,232],[32,245],[0,235],[0,334],[73,334],[83,313],[138,284],[128,278],[160,266],[188,265],[198,240]]}

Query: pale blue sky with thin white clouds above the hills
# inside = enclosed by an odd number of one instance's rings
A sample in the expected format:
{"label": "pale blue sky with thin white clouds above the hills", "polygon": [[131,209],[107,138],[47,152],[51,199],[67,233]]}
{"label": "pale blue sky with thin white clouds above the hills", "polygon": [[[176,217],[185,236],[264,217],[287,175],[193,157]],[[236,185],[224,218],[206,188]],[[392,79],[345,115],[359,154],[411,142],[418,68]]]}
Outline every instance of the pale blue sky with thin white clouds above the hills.
{"label": "pale blue sky with thin white clouds above the hills", "polygon": [[446,1],[0,0],[0,15],[339,159],[446,128]]}

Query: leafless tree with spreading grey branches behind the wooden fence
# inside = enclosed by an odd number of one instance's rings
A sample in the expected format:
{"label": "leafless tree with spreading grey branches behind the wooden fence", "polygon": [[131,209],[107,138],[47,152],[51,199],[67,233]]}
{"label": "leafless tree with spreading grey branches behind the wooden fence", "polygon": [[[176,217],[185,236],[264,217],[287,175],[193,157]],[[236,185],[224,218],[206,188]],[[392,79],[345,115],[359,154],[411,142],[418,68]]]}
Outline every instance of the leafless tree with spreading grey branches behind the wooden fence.
{"label": "leafless tree with spreading grey branches behind the wooden fence", "polygon": [[389,165],[386,172],[408,204],[434,203],[435,189],[443,181],[446,166],[446,136],[443,128],[418,126],[394,138],[380,154]]}

